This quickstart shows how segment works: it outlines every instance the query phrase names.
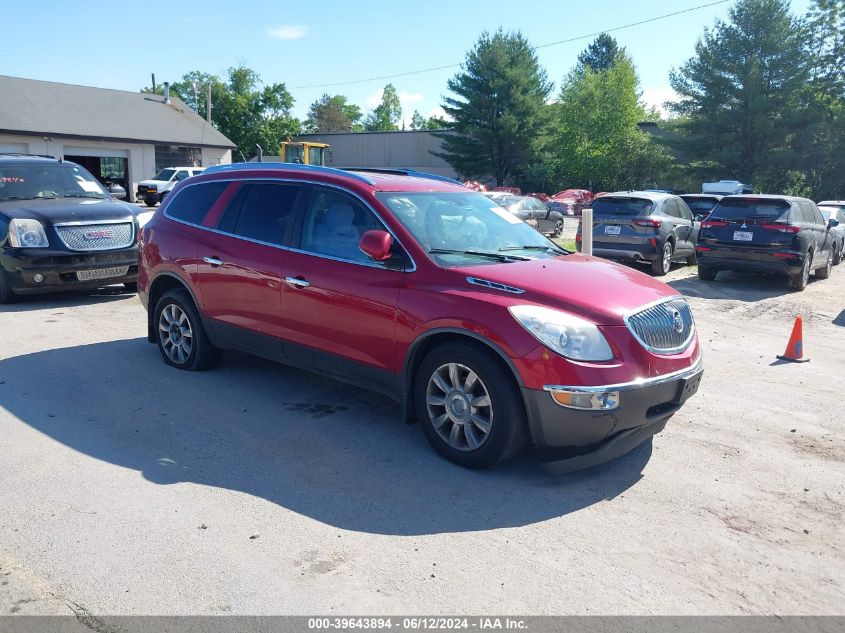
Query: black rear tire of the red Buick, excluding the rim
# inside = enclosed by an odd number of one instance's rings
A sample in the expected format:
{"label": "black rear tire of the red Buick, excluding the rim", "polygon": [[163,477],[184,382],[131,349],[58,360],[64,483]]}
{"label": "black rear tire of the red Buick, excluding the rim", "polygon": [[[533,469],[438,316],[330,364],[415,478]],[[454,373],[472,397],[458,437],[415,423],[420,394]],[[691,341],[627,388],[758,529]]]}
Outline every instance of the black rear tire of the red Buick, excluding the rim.
{"label": "black rear tire of the red Buick, excluding the rim", "polygon": [[[171,306],[175,306],[182,314],[185,315],[188,327],[191,330],[190,350],[185,353],[183,348],[183,358],[180,357],[178,353],[171,355],[171,352],[168,350],[173,348],[173,339],[170,334],[166,335],[161,329],[162,312]],[[164,362],[171,367],[184,369],[186,371],[203,371],[213,367],[219,362],[222,356],[222,350],[211,344],[211,341],[205,332],[205,328],[203,327],[199,312],[197,311],[193,299],[191,299],[191,296],[187,291],[177,288],[165,292],[156,304],[153,319],[153,328],[158,349],[161,352],[161,357],[164,359]],[[181,340],[188,337],[180,335],[179,338]]]}

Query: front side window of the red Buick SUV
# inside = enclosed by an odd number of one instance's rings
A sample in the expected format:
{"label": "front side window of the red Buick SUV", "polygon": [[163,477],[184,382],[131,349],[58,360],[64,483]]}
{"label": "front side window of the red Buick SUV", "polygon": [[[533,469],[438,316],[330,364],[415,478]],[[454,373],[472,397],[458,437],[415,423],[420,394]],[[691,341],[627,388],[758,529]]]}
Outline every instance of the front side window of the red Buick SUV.
{"label": "front side window of the red Buick SUV", "polygon": [[315,187],[302,222],[302,250],[351,261],[372,262],[358,243],[370,230],[384,230],[373,213],[352,196]]}

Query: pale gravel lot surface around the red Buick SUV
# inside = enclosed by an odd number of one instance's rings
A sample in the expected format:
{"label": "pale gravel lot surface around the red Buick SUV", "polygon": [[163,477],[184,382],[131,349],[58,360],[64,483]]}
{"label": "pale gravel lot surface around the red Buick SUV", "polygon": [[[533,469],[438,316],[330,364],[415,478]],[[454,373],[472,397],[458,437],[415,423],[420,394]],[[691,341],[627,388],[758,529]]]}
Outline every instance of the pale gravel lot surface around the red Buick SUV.
{"label": "pale gravel lot surface around the red Buick SUV", "polygon": [[[692,270],[700,392],[557,478],[462,470],[392,402],[248,356],[172,370],[134,295],[0,307],[0,613],[841,613],[845,265]],[[777,363],[797,314],[812,362]]]}

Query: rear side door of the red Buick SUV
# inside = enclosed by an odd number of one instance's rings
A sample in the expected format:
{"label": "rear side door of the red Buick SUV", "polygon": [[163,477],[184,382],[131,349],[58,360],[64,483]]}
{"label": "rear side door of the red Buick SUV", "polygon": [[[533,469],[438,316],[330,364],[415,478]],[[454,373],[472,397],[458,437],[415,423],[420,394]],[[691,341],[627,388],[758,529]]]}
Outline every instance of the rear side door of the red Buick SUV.
{"label": "rear side door of the red Buick SUV", "polygon": [[204,220],[198,286],[217,338],[260,356],[284,357],[282,268],[301,187],[231,183]]}

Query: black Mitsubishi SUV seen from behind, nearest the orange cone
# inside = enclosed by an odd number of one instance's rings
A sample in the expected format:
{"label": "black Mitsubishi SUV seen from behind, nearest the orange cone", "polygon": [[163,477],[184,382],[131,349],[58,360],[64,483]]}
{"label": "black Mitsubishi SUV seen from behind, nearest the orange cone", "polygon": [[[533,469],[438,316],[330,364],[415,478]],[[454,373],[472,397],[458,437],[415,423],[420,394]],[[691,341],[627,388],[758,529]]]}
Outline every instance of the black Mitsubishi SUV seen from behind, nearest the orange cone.
{"label": "black Mitsubishi SUV seen from behind, nearest the orange cone", "polygon": [[698,276],[720,270],[776,273],[803,290],[810,278],[827,279],[838,226],[825,222],[815,203],[791,196],[726,196],[701,223]]}

